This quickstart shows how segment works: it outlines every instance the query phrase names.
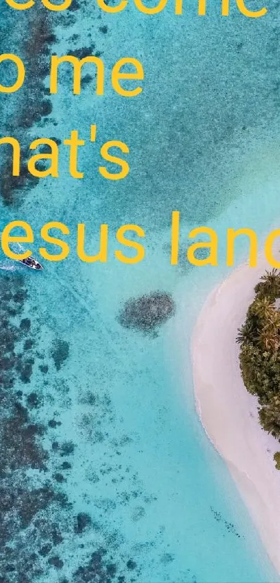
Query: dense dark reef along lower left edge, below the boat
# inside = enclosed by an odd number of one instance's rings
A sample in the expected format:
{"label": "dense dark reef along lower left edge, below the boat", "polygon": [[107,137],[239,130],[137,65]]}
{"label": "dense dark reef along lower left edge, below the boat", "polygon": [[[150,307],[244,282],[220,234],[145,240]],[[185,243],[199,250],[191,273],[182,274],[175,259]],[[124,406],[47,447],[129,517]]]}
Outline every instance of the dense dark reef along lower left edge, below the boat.
{"label": "dense dark reef along lower left edge, below the boat", "polygon": [[[61,542],[58,522],[69,509],[65,493],[53,486],[48,476],[49,452],[42,446],[47,427],[35,422],[32,414],[40,407],[41,398],[28,391],[36,341],[31,319],[22,317],[26,297],[22,276],[1,276],[1,583],[31,583],[44,573],[40,550],[47,545],[51,550]],[[17,390],[19,383],[24,390]],[[38,485],[28,478],[28,470],[37,473]],[[60,516],[58,522],[53,521],[53,516]]]}

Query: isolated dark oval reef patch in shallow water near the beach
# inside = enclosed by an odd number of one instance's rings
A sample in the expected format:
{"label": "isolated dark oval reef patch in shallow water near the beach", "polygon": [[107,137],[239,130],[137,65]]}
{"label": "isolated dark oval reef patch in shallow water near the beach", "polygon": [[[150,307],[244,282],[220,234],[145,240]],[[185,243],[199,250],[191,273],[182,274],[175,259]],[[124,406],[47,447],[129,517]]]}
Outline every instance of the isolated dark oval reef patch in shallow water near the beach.
{"label": "isolated dark oval reef patch in shallow water near the beach", "polygon": [[124,328],[149,333],[156,330],[174,313],[175,304],[171,295],[156,291],[129,299],[119,315],[119,322]]}

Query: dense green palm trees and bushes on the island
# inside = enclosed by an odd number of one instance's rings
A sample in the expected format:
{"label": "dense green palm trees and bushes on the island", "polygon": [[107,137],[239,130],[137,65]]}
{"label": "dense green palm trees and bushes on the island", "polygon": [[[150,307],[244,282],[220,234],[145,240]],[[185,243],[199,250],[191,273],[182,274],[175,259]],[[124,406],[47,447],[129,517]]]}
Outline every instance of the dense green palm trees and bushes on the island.
{"label": "dense green palm trees and bushes on the island", "polygon": [[[245,324],[238,330],[240,368],[249,393],[258,397],[265,431],[280,440],[280,274],[265,272],[255,288]],[[278,456],[278,457],[277,457]],[[280,454],[275,454],[280,469]]]}

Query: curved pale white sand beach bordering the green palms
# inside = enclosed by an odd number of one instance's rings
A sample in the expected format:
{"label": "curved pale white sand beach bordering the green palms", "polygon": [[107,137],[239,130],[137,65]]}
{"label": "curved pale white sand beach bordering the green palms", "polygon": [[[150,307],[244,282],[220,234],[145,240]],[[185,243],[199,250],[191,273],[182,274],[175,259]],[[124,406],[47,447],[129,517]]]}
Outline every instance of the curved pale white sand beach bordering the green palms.
{"label": "curved pale white sand beach bordering the green palms", "polygon": [[272,563],[280,573],[280,443],[258,424],[256,399],[240,375],[238,327],[267,265],[237,268],[204,304],[192,337],[197,411],[206,432],[227,462]]}

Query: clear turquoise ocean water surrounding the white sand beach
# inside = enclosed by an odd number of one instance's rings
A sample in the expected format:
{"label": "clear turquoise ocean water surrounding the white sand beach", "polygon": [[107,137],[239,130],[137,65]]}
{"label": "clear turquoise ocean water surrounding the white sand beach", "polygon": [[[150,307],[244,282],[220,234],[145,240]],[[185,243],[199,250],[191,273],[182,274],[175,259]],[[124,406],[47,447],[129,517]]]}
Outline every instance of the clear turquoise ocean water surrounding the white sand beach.
{"label": "clear turquoise ocean water surrounding the white sand beach", "polygon": [[[45,222],[64,222],[71,252],[63,262],[45,261],[42,274],[1,261],[8,459],[0,581],[277,582],[195,413],[190,336],[206,295],[227,273],[225,229],[252,227],[261,245],[280,216],[279,5],[256,21],[234,6],[222,19],[218,2],[204,19],[190,2],[181,17],[172,3],[156,17],[132,2],[119,15],[89,0],[74,0],[73,8],[50,15],[4,6],[1,15],[1,51],[28,63],[25,88],[1,97],[3,136],[9,131],[26,146],[78,129],[87,142],[83,181],[69,177],[63,147],[58,179],[10,184],[1,162],[1,225],[27,220],[38,235]],[[105,95],[96,97],[87,77],[73,96],[65,69],[50,106],[42,87],[49,53],[73,51],[104,58]],[[110,69],[123,56],[145,69],[135,99],[110,87]],[[90,124],[97,124],[96,145]],[[113,139],[131,149],[124,181],[97,172],[99,148]],[[172,210],[181,211],[178,267],[170,266]],[[89,253],[99,224],[109,224],[108,263],[76,257],[78,222],[87,225]],[[113,257],[124,222],[146,231],[145,261],[135,266]],[[202,224],[220,236],[215,269],[184,259],[188,231]],[[39,246],[37,237],[35,256]],[[237,261],[245,252],[244,242]],[[155,290],[172,295],[174,317],[156,337],[124,329],[124,302]]]}

